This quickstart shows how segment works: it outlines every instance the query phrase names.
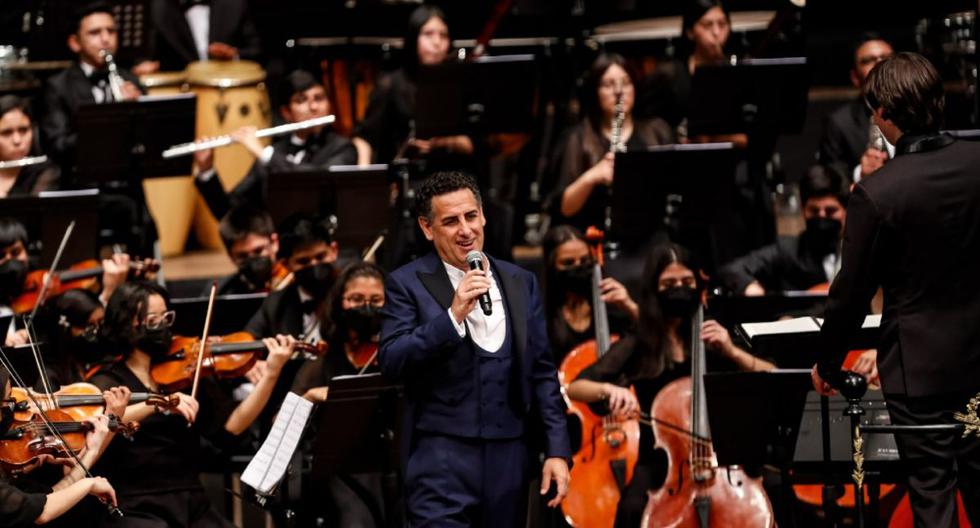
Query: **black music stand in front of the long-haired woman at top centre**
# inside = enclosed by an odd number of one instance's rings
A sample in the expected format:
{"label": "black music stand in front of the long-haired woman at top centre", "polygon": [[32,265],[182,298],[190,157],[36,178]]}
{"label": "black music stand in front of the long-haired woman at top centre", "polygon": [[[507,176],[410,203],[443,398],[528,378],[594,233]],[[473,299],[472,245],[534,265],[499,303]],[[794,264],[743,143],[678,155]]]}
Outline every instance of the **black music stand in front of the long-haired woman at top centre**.
{"label": "black music stand in front of the long-haired woman at top centre", "polygon": [[422,67],[415,136],[528,132],[534,125],[537,81],[533,55]]}

